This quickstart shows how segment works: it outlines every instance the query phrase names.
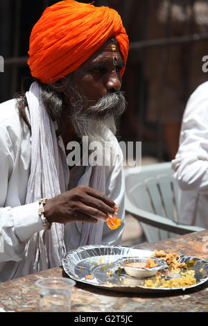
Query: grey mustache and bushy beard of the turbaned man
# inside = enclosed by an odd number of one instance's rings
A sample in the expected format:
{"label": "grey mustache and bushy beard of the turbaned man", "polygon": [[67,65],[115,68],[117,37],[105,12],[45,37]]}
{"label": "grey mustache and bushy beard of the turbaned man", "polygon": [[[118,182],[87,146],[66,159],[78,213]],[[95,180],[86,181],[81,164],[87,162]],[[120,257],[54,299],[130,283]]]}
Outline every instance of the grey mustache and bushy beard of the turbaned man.
{"label": "grey mustache and bushy beard of the turbaned man", "polygon": [[116,134],[116,120],[127,106],[123,92],[110,92],[91,105],[91,101],[74,85],[70,86],[70,93],[66,95],[67,117],[71,119],[78,137],[88,136],[89,141],[103,143],[109,130]]}

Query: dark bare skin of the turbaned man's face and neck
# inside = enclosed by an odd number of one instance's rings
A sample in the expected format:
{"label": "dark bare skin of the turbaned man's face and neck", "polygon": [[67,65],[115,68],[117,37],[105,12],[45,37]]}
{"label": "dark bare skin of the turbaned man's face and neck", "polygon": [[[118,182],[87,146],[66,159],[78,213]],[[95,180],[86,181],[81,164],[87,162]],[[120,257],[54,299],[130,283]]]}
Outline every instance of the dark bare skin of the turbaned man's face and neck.
{"label": "dark bare skin of the turbaned man's face and neck", "polygon": [[[112,59],[113,44],[119,50],[117,43],[108,41],[79,69],[73,71],[73,85],[76,85],[80,94],[87,98],[89,105],[94,105],[102,96],[121,89],[120,71],[124,67],[124,62],[120,51],[116,51],[118,59],[116,66],[114,65]],[[66,83],[64,78],[62,78],[62,83]],[[65,96],[70,96],[66,89],[65,93]],[[62,139],[65,148],[67,148],[69,141],[76,139],[76,132],[66,115],[62,117],[62,122]]]}

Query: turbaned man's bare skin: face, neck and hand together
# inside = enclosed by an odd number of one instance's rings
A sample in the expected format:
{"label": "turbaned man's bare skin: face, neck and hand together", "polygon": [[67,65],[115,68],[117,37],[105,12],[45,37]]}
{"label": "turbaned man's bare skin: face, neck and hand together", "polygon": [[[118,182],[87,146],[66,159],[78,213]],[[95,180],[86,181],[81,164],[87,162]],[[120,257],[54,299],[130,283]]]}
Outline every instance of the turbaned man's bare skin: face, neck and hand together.
{"label": "turbaned man's bare skin: face, neck and hand together", "polygon": [[[116,65],[113,62],[113,44],[116,45]],[[107,41],[73,72],[73,85],[88,99],[89,105],[94,105],[102,96],[121,89],[120,71],[123,65],[118,44]],[[69,118],[63,117],[62,121],[62,139],[66,148],[69,141],[76,139],[76,134]],[[44,216],[51,223],[97,223],[99,220],[106,222],[109,215],[116,217],[116,209],[114,201],[105,194],[87,186],[78,186],[46,200]]]}

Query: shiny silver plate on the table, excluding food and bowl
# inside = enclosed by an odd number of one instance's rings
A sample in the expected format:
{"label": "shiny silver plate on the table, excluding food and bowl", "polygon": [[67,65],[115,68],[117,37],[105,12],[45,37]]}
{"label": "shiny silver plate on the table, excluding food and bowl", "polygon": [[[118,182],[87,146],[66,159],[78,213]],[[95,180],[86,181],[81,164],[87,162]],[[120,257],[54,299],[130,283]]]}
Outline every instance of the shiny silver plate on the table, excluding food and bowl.
{"label": "shiny silver plate on the table, excluding food and bowl", "polygon": [[[73,280],[98,286],[103,289],[123,292],[154,293],[164,291],[178,291],[190,289],[208,280],[208,262],[191,256],[180,255],[179,262],[186,264],[193,261],[191,269],[195,271],[196,284],[189,287],[160,288],[144,286],[144,280],[127,275],[124,269],[116,264],[118,259],[123,257],[151,257],[153,250],[142,250],[138,248],[122,246],[83,246],[71,250],[62,260],[64,271]],[[91,278],[88,278],[89,276]],[[179,277],[169,275],[169,278]],[[164,273],[162,278],[167,276]],[[154,280],[153,280],[154,282]]]}

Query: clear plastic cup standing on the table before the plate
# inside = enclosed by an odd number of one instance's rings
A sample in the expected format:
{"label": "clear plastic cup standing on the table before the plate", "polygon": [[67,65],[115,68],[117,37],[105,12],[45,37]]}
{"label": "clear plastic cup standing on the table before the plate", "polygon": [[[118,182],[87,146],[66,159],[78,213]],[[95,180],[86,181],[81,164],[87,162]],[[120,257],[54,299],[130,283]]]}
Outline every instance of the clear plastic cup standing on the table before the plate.
{"label": "clear plastic cup standing on the table before the plate", "polygon": [[71,292],[76,282],[64,277],[47,277],[37,280],[40,312],[71,311]]}

